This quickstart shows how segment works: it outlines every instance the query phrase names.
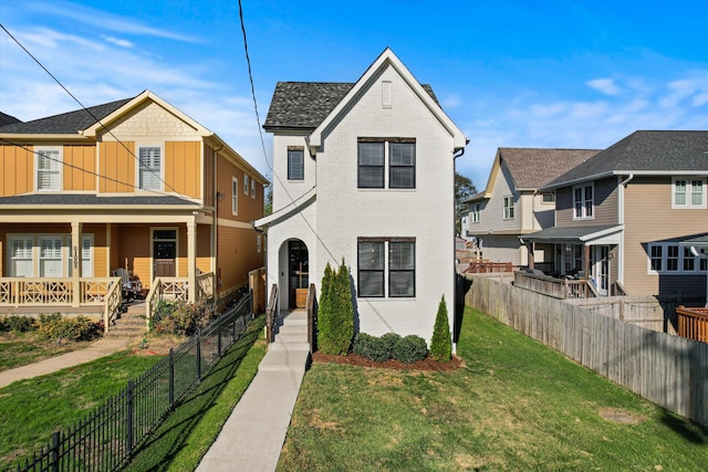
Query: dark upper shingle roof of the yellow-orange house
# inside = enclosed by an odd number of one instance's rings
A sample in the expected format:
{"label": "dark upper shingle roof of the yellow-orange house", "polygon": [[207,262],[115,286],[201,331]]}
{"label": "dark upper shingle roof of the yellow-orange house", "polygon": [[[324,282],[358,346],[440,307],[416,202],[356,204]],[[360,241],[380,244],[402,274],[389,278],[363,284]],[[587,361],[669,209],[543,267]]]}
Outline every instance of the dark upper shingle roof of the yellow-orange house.
{"label": "dark upper shingle roof of the yellow-orange house", "polygon": [[118,99],[91,106],[86,109],[62,113],[61,115],[20,122],[0,127],[0,134],[28,134],[28,135],[71,135],[86,129],[132,101],[133,98]]}

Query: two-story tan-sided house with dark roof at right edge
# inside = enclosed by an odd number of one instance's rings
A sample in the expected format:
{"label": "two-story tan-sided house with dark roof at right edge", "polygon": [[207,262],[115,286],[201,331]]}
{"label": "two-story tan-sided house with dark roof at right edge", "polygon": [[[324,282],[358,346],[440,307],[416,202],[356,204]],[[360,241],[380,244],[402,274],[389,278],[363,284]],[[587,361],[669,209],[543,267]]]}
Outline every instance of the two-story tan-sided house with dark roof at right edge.
{"label": "two-story tan-sided house with dark roof at right edge", "polygon": [[541,189],[558,196],[556,224],[527,244],[568,253],[555,270],[601,294],[705,304],[708,260],[684,242],[708,232],[706,149],[708,132],[633,133]]}

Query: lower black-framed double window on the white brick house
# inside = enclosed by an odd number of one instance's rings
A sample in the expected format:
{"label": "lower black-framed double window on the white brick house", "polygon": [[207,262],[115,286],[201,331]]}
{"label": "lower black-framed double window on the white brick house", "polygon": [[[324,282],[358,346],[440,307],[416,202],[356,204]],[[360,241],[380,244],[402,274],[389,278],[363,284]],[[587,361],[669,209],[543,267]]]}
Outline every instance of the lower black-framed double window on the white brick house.
{"label": "lower black-framed double window on the white brick house", "polygon": [[357,270],[358,297],[414,297],[415,240],[360,238]]}

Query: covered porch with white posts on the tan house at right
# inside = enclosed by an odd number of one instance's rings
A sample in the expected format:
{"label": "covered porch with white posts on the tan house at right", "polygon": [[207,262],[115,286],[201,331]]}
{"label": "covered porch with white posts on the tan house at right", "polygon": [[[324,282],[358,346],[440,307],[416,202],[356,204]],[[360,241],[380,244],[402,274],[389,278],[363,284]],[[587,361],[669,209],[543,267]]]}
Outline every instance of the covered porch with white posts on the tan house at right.
{"label": "covered porch with white posts on the tan house at right", "polygon": [[[520,237],[529,268],[514,285],[560,298],[625,295],[622,285],[622,225],[549,228]],[[535,263],[537,251],[542,263]]]}

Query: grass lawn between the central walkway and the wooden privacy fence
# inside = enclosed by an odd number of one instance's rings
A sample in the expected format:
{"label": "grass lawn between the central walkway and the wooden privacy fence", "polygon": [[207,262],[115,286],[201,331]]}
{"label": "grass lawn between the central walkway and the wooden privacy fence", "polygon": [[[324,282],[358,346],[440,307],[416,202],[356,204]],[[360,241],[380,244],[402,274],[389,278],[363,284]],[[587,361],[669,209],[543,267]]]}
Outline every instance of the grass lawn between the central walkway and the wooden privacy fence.
{"label": "grass lawn between the central walkway and the wooden privacy fence", "polygon": [[314,364],[278,469],[705,470],[708,430],[466,308],[466,367]]}

